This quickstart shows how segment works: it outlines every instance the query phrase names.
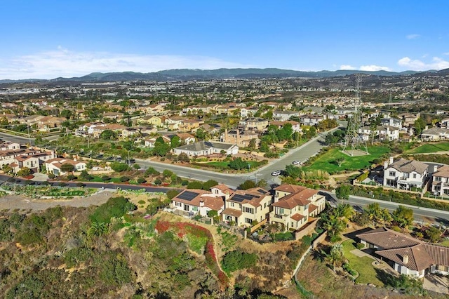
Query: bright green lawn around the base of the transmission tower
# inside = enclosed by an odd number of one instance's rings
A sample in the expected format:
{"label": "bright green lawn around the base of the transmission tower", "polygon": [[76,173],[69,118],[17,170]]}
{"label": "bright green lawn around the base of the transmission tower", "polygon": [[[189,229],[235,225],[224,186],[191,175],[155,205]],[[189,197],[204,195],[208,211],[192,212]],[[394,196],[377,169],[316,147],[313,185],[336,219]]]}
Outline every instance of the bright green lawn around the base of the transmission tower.
{"label": "bright green lawn around the base of the transmission tower", "polygon": [[[377,159],[389,152],[388,147],[368,147],[368,152],[365,156],[350,157],[347,154],[343,154],[340,148],[330,149],[328,152],[321,155],[310,166],[304,166],[304,171],[327,171],[328,173],[336,173],[338,171],[359,171],[366,169],[373,164],[373,160]],[[336,159],[342,158],[344,161],[341,166],[335,163]]]}

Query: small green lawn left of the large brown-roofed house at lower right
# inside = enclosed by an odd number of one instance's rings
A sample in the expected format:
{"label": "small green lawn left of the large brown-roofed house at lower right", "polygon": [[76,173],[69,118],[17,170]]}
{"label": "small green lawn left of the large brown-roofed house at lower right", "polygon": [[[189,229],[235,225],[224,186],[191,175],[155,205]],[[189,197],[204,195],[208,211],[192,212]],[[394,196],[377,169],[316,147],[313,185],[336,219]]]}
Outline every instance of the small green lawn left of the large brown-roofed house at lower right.
{"label": "small green lawn left of the large brown-roofed house at lower right", "polygon": [[358,256],[351,253],[352,250],[356,249],[354,246],[355,241],[352,239],[346,240],[342,243],[344,258],[349,260],[349,265],[351,268],[356,270],[360,274],[356,282],[360,284],[375,284],[376,286],[384,286],[382,281],[377,279],[377,273],[373,266],[374,260],[364,256],[359,258]]}

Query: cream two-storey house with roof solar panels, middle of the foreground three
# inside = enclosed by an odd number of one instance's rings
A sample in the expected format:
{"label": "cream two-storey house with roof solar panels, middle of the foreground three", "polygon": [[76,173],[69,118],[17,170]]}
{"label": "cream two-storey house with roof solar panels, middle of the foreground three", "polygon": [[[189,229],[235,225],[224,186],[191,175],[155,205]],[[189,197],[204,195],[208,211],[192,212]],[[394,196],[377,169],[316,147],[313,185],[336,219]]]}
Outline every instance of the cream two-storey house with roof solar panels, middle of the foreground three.
{"label": "cream two-storey house with roof solar panels, middle of the foreground three", "polygon": [[262,188],[236,190],[229,198],[225,198],[225,210],[222,220],[234,222],[235,225],[251,226],[267,218],[272,195]]}

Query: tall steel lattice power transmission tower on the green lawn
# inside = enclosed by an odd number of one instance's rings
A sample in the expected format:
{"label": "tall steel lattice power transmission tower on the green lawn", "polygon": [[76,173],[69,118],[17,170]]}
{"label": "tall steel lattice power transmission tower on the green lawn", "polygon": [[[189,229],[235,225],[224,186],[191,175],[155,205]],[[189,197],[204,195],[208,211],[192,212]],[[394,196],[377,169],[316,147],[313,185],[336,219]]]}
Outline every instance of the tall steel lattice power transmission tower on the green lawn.
{"label": "tall steel lattice power transmission tower on the green lawn", "polygon": [[362,77],[356,76],[356,98],[354,99],[354,113],[348,121],[346,136],[344,137],[343,152],[351,157],[355,150],[364,150],[368,154],[366,140],[363,139],[363,111],[361,107]]}

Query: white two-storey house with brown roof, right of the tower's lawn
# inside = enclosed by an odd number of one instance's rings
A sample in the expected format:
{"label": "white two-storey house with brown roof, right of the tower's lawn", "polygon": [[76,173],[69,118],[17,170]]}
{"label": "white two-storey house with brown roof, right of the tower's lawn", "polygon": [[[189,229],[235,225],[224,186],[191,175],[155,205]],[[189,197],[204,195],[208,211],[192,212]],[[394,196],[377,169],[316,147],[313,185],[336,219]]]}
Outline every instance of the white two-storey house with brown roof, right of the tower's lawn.
{"label": "white two-storey house with brown roof, right of the tower's lawn", "polygon": [[415,160],[390,158],[384,163],[384,183],[386,187],[410,190],[411,187],[422,188],[427,181],[429,166]]}

